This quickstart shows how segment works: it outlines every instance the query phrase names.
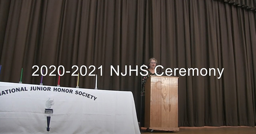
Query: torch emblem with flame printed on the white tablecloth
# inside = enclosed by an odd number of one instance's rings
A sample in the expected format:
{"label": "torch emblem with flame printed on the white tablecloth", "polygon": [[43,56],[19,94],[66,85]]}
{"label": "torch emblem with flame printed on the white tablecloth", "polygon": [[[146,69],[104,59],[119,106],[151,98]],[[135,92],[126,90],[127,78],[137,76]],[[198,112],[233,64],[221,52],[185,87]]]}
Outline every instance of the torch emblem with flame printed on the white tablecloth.
{"label": "torch emblem with flame printed on the white tablecloth", "polygon": [[53,115],[53,109],[51,109],[52,105],[54,105],[54,100],[49,98],[45,103],[45,106],[47,107],[47,109],[45,109],[45,116],[47,117],[47,131],[50,131],[50,119]]}

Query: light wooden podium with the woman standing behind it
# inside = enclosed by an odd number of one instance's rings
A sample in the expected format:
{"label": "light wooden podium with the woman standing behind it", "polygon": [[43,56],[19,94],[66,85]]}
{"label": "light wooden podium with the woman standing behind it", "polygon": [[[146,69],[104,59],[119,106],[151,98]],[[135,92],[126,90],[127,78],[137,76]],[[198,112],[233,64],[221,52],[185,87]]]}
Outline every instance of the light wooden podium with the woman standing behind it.
{"label": "light wooden podium with the woman standing behind it", "polygon": [[145,127],[179,131],[178,77],[150,76],[145,84]]}

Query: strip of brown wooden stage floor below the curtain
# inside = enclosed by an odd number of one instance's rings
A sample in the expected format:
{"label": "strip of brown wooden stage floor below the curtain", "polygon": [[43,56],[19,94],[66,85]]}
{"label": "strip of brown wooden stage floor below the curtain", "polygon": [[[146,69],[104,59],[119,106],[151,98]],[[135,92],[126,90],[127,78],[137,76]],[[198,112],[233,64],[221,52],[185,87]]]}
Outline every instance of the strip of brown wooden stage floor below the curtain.
{"label": "strip of brown wooden stage floor below the curtain", "polygon": [[141,134],[256,134],[256,127],[180,127],[180,131],[174,131],[173,133],[165,131],[153,131],[144,132]]}

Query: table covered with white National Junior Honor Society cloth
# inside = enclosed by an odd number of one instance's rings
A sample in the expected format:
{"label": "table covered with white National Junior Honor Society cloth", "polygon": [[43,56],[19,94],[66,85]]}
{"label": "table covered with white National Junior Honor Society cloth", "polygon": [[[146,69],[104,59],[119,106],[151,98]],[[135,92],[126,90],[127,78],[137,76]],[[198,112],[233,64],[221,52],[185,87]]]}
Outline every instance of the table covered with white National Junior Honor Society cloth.
{"label": "table covered with white National Junior Honor Society cloth", "polygon": [[0,134],[140,134],[132,92],[0,82]]}

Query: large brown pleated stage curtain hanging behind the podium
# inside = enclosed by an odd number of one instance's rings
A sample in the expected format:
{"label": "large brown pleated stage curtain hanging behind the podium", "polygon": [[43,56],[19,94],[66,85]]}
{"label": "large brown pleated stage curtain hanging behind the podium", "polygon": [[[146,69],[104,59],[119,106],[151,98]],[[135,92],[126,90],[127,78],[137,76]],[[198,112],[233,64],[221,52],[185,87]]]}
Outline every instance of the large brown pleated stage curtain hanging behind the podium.
{"label": "large brown pleated stage curtain hanging behind the podium", "polygon": [[49,67],[63,65],[60,85],[75,87],[71,67],[86,65],[79,86],[94,89],[89,66],[102,65],[98,89],[133,92],[140,119],[140,75],[110,76],[110,65],[224,68],[220,79],[176,74],[179,126],[255,126],[255,24],[255,12],[217,0],[0,0],[0,80],[19,82],[23,68],[23,83],[39,84],[32,66],[46,65],[43,84],[57,85]]}

